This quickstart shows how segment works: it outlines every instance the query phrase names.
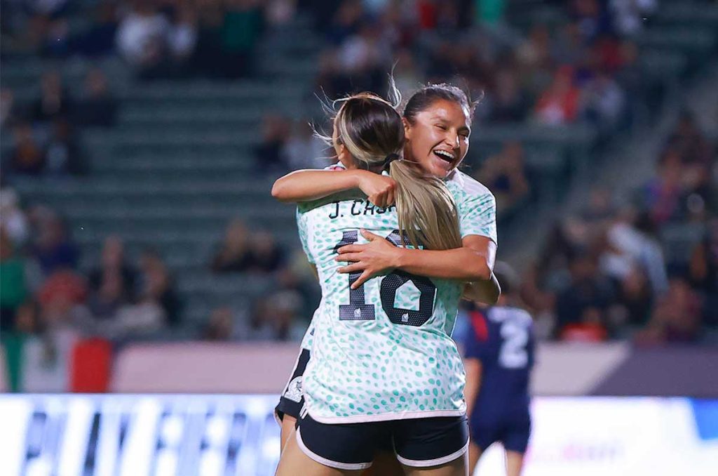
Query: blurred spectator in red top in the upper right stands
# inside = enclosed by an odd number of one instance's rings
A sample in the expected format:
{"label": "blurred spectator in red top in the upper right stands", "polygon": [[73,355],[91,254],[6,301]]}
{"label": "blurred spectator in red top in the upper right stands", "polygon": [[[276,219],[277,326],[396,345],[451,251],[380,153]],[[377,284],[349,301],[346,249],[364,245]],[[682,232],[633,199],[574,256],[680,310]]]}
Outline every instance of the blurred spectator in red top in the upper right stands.
{"label": "blurred spectator in red top in the upper right stands", "polygon": [[554,75],[551,86],[541,94],[536,103],[536,121],[546,125],[574,122],[579,112],[580,91],[573,84],[573,71],[564,66]]}

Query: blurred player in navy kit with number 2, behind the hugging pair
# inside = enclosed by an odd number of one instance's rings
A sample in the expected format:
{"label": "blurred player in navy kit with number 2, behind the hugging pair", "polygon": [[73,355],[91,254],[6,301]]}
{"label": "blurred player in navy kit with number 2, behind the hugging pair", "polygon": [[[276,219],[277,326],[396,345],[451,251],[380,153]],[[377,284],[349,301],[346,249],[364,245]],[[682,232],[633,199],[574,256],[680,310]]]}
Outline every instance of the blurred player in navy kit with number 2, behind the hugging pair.
{"label": "blurred player in navy kit with number 2, behind the hugging pair", "polygon": [[495,273],[501,283],[498,304],[470,313],[465,342],[470,471],[482,452],[498,441],[506,452],[508,476],[518,476],[531,434],[528,384],[535,345],[533,321],[518,303],[513,271],[498,262]]}

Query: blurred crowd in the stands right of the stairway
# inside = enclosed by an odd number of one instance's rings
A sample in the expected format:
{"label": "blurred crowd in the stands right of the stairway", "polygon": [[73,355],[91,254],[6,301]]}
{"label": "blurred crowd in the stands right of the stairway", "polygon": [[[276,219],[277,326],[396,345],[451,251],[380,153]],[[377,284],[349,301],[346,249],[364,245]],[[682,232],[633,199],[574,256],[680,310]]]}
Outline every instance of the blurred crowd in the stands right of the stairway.
{"label": "blurred crowd in the stands right of the stairway", "polygon": [[696,342],[718,326],[718,145],[684,114],[627,203],[596,188],[524,276],[544,337]]}

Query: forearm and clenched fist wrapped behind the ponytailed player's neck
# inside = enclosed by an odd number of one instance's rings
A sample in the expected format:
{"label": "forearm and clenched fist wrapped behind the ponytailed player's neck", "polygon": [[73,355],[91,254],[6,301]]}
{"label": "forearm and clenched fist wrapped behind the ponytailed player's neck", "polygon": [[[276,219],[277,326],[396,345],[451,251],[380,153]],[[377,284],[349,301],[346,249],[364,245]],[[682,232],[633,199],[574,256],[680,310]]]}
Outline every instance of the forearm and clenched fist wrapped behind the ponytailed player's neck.
{"label": "forearm and clenched fist wrapped behind the ponytailed player's neck", "polygon": [[371,203],[384,208],[394,203],[396,181],[368,170],[297,170],[274,182],[271,196],[282,202],[312,201],[358,188]]}

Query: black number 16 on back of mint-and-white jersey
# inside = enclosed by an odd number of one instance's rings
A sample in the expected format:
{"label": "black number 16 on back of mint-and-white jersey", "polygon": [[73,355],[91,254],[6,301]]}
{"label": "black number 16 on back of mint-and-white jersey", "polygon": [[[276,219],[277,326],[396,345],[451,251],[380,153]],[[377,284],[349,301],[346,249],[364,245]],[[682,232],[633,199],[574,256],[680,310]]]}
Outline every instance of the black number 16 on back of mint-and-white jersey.
{"label": "black number 16 on back of mint-and-white jersey", "polygon": [[[402,244],[398,230],[394,230],[386,237],[391,244],[399,246]],[[334,251],[339,250],[345,244],[354,244],[358,241],[358,230],[350,230],[342,234],[342,240],[334,247]],[[407,244],[404,238],[404,244]],[[351,285],[358,280],[361,273],[349,273],[349,304],[341,304],[339,306],[340,321],[370,321],[376,319],[376,313],[373,304],[367,304],[364,295],[364,286],[361,285],[357,289],[352,289]],[[419,310],[403,309],[394,307],[396,293],[401,286],[411,283],[419,290]],[[393,273],[386,275],[381,280],[380,296],[381,308],[386,313],[393,324],[401,324],[406,326],[421,326],[431,318],[434,313],[434,296],[436,294],[436,286],[429,278],[416,276],[403,271],[395,270]]]}

